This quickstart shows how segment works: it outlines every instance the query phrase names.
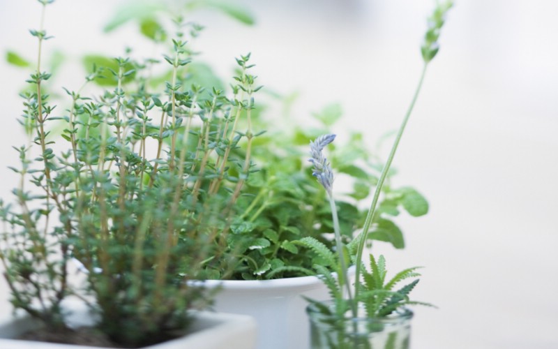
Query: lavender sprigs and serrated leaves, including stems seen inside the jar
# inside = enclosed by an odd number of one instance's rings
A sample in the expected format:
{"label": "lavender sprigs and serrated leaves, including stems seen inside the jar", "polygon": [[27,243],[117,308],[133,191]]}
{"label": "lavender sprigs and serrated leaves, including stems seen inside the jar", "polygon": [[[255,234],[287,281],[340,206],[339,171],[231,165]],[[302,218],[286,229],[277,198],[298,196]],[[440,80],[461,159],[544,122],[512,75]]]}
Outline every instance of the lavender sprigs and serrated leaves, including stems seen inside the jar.
{"label": "lavender sprigs and serrated leaves, including stems seen inside the jar", "polygon": [[[326,251],[325,246],[322,243],[317,242],[315,239],[301,239],[299,244],[303,244],[315,251],[322,251],[322,254],[326,256],[326,259],[328,260],[328,264],[337,266],[336,271],[338,272],[338,278],[334,278],[327,272],[327,269],[322,266],[315,267],[317,272],[322,275],[320,277],[322,277],[322,280],[324,280],[328,286],[331,296],[333,297],[333,305],[310,300],[310,312],[324,315],[325,318],[322,318],[322,320],[326,319],[324,321],[335,322],[335,319],[344,320],[347,317],[356,319],[363,316],[360,309],[364,310],[365,318],[387,318],[396,311],[399,311],[402,306],[409,304],[424,304],[421,302],[414,302],[409,299],[409,292],[411,292],[416,283],[418,283],[418,279],[394,291],[395,285],[400,281],[419,276],[416,272],[416,267],[405,269],[396,274],[393,279],[386,281],[384,257],[380,256],[378,259],[375,259],[374,256],[370,255],[370,272],[368,272],[363,262],[363,253],[366,242],[368,241],[368,234],[370,232],[370,228],[372,227],[373,220],[378,215],[377,205],[379,202],[379,196],[382,193],[384,181],[388,176],[391,163],[395,156],[395,151],[398,149],[398,144],[401,140],[403,132],[405,131],[405,126],[407,125],[407,121],[409,120],[410,114],[413,110],[418,93],[421,90],[426,68],[439,50],[438,38],[440,29],[442,29],[444,24],[447,11],[452,6],[453,1],[437,3],[434,12],[428,19],[428,31],[425,34],[425,40],[421,47],[424,66],[418,86],[416,87],[414,97],[409,105],[398,133],[395,135],[393,146],[391,147],[391,151],[382,170],[382,174],[377,182],[375,193],[372,197],[370,209],[368,210],[362,232],[346,246],[342,244],[340,238],[342,234],[340,232],[339,225],[335,224],[335,222],[338,221],[338,211],[335,207],[335,201],[333,200],[332,194],[333,170],[327,161],[326,156],[323,154],[323,149],[328,144],[333,142],[335,135],[322,135],[315,141],[310,142],[310,162],[314,165],[312,173],[317,178],[319,184],[322,184],[324,187],[332,208],[331,211],[334,222],[333,228],[335,232],[337,255]],[[349,283],[347,273],[347,266],[351,262],[354,262],[356,265],[356,281],[354,283],[354,288],[352,288]],[[374,331],[372,329],[370,330]],[[358,336],[356,336],[357,331],[358,329],[356,328],[356,325],[354,325],[354,327],[338,327],[338,331],[336,331],[338,338],[335,340],[330,338],[327,341],[327,345],[330,348],[370,348],[368,339],[365,339],[364,341],[359,339]],[[375,331],[377,331],[377,329],[375,329]],[[351,337],[351,332],[354,332],[355,336]],[[386,343],[385,348],[395,348],[392,346],[393,344],[390,343],[394,343],[393,339]],[[324,343],[322,343],[322,345],[323,344]],[[402,344],[402,348],[407,348],[408,345],[407,341],[407,344]]]}

